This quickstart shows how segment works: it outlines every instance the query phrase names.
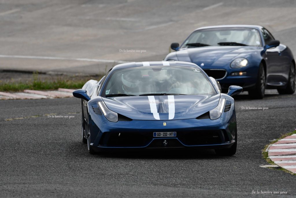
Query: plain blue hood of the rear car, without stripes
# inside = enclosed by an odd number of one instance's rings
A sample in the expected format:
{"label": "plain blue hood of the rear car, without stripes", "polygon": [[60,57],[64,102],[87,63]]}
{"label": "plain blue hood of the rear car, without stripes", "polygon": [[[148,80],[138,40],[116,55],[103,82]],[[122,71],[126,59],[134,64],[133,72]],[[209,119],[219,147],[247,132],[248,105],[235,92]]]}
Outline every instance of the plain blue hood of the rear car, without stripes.
{"label": "plain blue hood of the rear car, without stripes", "polygon": [[176,52],[179,61],[188,61],[199,66],[212,66],[216,62],[230,62],[235,57],[255,47],[250,46],[207,46],[187,48]]}

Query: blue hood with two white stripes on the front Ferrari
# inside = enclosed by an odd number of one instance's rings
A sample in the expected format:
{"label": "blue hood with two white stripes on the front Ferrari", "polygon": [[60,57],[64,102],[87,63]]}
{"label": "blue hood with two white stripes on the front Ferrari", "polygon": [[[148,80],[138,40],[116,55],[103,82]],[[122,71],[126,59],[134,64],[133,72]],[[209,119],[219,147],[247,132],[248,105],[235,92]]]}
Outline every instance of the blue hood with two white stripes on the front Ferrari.
{"label": "blue hood with two white stripes on the front Ferrari", "polygon": [[103,98],[110,110],[133,120],[180,120],[197,118],[214,109],[218,105],[219,99],[220,94],[170,95],[170,100],[168,96],[121,96]]}

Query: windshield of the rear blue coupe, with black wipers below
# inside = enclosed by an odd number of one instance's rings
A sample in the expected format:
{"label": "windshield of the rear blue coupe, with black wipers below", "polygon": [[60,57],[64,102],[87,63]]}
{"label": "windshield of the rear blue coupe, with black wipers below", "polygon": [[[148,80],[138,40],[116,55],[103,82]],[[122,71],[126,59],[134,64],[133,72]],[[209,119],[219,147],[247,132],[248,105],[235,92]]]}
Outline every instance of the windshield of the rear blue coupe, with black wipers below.
{"label": "windshield of the rear blue coupe, with black wipers below", "polygon": [[204,46],[262,46],[260,34],[254,28],[210,28],[194,31],[181,48]]}

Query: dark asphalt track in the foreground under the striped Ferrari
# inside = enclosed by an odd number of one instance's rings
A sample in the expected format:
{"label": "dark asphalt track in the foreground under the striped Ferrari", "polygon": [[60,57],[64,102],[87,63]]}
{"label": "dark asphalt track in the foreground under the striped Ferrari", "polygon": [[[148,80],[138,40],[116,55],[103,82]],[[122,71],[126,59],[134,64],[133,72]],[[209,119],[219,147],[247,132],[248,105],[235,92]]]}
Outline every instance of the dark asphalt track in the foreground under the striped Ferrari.
{"label": "dark asphalt track in the foreground under the striped Ferrari", "polygon": [[264,145],[295,129],[296,95],[247,97],[236,97],[238,148],[230,157],[211,150],[91,155],[81,141],[79,99],[1,101],[0,197],[250,197],[261,190],[295,197],[295,176],[259,166],[267,164]]}

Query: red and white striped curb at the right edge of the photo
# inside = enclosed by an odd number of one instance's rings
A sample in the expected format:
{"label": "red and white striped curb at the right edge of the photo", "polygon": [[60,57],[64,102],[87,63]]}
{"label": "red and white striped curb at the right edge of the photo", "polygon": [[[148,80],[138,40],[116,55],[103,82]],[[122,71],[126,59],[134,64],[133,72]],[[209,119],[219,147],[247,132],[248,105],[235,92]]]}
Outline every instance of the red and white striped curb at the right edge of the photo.
{"label": "red and white striped curb at the right edge of the photo", "polygon": [[268,157],[278,166],[296,173],[296,134],[270,145]]}

